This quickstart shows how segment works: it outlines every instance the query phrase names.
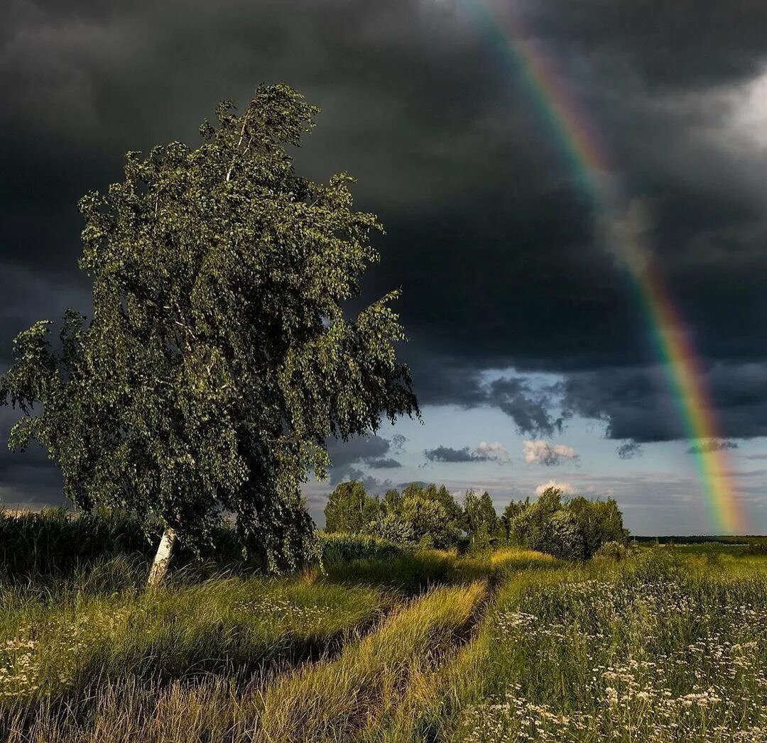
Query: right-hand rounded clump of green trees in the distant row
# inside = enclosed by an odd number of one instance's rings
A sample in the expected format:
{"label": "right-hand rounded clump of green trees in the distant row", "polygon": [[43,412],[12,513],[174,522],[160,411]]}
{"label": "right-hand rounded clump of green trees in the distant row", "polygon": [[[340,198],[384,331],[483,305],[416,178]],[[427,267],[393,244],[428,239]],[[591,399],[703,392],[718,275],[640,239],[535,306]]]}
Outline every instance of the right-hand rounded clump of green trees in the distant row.
{"label": "right-hand rounded clump of green trees in the distant row", "polygon": [[546,488],[536,501],[520,501],[505,511],[509,540],[566,560],[585,560],[608,541],[624,544],[628,532],[613,498],[561,500],[558,488]]}

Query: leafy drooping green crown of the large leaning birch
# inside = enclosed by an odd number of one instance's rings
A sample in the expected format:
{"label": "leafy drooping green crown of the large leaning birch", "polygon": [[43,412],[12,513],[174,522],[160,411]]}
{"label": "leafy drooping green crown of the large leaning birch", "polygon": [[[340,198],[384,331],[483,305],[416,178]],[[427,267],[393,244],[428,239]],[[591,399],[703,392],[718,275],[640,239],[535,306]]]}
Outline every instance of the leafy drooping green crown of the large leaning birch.
{"label": "leafy drooping green crown of the large leaning birch", "polygon": [[56,348],[35,323],[0,381],[22,414],[9,444],[47,448],[77,508],[197,548],[229,511],[250,554],[296,567],[314,544],[300,485],[324,477],[328,437],[418,413],[397,293],[344,317],[377,218],[352,209],[350,176],[310,182],[285,149],[317,113],[258,87],[242,115],[218,107],[198,148],[128,153],[123,182],[81,199],[91,321],[67,312]]}

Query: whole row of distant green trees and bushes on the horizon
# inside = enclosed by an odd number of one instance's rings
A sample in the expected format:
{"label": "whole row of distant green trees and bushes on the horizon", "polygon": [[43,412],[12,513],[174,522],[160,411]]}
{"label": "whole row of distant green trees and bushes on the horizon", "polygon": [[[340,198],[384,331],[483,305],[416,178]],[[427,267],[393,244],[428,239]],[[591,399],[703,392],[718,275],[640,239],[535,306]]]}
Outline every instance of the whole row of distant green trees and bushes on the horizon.
{"label": "whole row of distant green trees and bushes on the horizon", "polygon": [[487,491],[467,491],[463,504],[444,485],[413,482],[402,491],[369,495],[361,482],[341,482],[325,506],[325,531],[367,534],[397,544],[482,551],[514,544],[555,557],[584,560],[628,536],[613,498],[563,500],[547,488],[531,501],[512,501],[499,517]]}

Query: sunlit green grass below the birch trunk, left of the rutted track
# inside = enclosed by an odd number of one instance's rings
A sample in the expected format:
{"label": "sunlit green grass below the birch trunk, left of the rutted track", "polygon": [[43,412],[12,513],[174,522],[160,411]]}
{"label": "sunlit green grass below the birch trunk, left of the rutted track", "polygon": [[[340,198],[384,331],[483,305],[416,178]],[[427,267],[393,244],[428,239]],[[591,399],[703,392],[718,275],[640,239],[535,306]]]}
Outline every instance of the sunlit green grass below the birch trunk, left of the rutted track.
{"label": "sunlit green grass below the birch trunk, left of the rutted track", "polygon": [[341,587],[313,576],[222,577],[151,593],[82,588],[53,601],[5,590],[0,706],[69,696],[128,676],[243,678],[328,651],[393,600],[376,587]]}

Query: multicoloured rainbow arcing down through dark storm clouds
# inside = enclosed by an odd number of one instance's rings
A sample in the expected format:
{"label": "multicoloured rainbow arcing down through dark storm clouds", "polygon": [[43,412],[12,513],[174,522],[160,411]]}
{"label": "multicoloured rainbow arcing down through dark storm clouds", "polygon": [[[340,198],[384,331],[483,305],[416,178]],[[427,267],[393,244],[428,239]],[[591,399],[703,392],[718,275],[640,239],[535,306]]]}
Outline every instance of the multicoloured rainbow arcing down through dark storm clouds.
{"label": "multicoloured rainbow arcing down through dark storm clouds", "polygon": [[[522,76],[536,109],[545,117],[597,213],[606,224],[624,219],[632,205],[624,196],[609,150],[567,78],[559,72],[555,54],[541,39],[535,39],[525,24],[518,0],[504,0],[502,4],[493,0],[457,2]],[[686,437],[693,442],[716,442],[721,435],[700,361],[643,237],[640,230],[634,234],[612,230],[606,243],[611,252],[623,258],[632,279]],[[724,449],[709,449],[693,446],[712,526],[719,534],[742,534],[744,519],[729,456]]]}

